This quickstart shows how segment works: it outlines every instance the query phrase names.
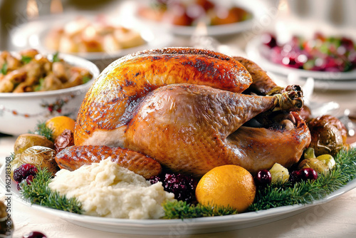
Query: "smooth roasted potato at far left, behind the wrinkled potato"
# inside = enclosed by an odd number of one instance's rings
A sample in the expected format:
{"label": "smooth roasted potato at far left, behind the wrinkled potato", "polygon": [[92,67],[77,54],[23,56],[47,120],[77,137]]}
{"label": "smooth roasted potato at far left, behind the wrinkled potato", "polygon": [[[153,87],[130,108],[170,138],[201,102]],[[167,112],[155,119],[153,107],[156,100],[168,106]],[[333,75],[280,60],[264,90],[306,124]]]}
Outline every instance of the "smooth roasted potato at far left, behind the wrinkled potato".
{"label": "smooth roasted potato at far left, behind the wrinkled potato", "polygon": [[35,145],[44,146],[47,148],[54,149],[54,143],[51,140],[48,140],[43,135],[36,134],[21,134],[15,141],[14,153],[15,155],[21,154],[27,148],[30,148]]}

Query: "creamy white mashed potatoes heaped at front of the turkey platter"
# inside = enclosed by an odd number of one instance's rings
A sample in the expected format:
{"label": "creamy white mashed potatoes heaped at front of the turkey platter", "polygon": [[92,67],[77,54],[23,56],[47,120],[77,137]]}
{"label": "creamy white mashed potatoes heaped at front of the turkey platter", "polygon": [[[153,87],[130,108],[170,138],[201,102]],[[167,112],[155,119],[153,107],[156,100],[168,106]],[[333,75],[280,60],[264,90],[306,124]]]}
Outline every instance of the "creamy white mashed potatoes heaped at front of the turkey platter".
{"label": "creamy white mashed potatoes heaped at front of the turkey platter", "polygon": [[68,198],[76,197],[84,214],[100,217],[158,219],[164,215],[162,202],[174,200],[161,182],[151,185],[110,158],[73,172],[60,170],[49,187]]}

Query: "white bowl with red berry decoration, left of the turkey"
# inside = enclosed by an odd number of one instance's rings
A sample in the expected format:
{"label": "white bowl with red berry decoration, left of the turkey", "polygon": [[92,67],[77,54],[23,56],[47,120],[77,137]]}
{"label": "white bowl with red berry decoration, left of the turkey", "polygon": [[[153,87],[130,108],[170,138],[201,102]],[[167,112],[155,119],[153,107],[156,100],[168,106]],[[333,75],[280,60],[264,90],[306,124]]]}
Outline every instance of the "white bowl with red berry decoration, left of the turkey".
{"label": "white bowl with red berry decoration, left of the turkey", "polygon": [[[33,93],[0,93],[0,133],[20,135],[34,130],[39,122],[58,115],[75,119],[85,93],[100,71],[94,63],[66,54],[60,58],[73,66],[87,68],[93,78],[80,86]],[[48,56],[51,58],[51,56]]]}

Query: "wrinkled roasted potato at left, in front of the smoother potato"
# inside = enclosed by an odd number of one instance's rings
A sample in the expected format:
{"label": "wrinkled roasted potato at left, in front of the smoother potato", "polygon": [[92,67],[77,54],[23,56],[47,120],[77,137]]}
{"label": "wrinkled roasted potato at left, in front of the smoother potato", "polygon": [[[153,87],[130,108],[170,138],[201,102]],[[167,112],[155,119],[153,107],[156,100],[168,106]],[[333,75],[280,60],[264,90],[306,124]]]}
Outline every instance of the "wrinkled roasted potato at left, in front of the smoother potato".
{"label": "wrinkled roasted potato at left, in front of the smoother potato", "polygon": [[38,165],[41,168],[46,167],[54,175],[59,170],[55,157],[56,150],[35,145],[21,153],[19,162],[21,164]]}

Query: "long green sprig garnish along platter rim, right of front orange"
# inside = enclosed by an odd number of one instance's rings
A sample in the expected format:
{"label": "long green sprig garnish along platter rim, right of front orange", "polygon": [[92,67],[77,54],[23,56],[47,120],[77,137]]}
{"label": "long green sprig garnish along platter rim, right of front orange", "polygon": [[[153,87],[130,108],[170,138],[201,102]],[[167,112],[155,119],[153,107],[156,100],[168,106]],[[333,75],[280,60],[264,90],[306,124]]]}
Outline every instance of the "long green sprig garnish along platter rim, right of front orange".
{"label": "long green sprig garnish along platter rim, right of front orange", "polygon": [[273,207],[307,204],[330,195],[356,177],[356,149],[341,150],[335,156],[336,167],[326,175],[319,174],[314,181],[290,182],[285,185],[269,185],[256,191],[253,204],[248,211]]}

